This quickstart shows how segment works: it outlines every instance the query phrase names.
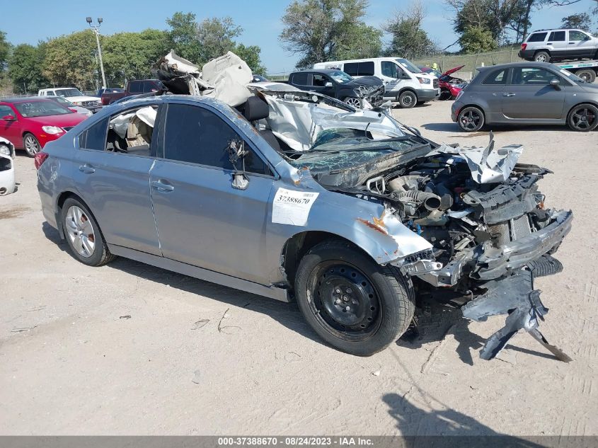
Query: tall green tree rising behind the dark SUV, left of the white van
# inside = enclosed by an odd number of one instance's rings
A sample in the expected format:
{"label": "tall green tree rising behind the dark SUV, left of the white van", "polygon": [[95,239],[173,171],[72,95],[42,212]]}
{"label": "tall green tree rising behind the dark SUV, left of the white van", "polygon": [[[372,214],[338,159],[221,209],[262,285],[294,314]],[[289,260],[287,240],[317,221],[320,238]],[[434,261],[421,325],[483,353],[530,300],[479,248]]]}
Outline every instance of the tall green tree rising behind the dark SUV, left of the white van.
{"label": "tall green tree rising behind the dark SUV, left of the white van", "polygon": [[285,50],[301,55],[299,68],[347,54],[371,56],[367,51],[381,49],[381,34],[365,25],[367,6],[366,0],[295,0],[282,16],[280,40]]}

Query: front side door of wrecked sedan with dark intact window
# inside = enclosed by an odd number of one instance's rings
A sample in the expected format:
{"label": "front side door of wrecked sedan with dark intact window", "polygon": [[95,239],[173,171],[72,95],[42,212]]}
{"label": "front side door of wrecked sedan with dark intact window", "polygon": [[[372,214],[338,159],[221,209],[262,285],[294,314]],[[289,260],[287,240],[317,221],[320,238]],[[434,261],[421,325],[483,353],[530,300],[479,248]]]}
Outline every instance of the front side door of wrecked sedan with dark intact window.
{"label": "front side door of wrecked sedan with dark intact window", "polygon": [[[233,185],[230,143],[243,142],[246,189]],[[265,228],[274,176],[241,132],[214,108],[168,105],[151,200],[167,258],[264,283]],[[241,161],[237,162],[241,168]]]}

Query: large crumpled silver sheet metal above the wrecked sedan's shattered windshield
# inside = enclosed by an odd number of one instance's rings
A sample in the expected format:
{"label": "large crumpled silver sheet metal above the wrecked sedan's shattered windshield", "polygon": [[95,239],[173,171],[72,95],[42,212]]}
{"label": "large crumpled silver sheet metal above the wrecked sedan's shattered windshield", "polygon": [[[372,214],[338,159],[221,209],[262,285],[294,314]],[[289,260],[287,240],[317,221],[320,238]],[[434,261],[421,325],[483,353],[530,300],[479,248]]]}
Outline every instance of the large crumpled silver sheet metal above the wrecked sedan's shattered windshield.
{"label": "large crumpled silver sheet metal above the wrecked sedan's shattered windshield", "polygon": [[350,129],[367,130],[376,139],[405,135],[396,122],[378,111],[336,108],[321,102],[317,95],[310,101],[284,91],[261,93],[270,105],[268,126],[295,151],[309,151],[321,131],[339,127],[339,123]]}

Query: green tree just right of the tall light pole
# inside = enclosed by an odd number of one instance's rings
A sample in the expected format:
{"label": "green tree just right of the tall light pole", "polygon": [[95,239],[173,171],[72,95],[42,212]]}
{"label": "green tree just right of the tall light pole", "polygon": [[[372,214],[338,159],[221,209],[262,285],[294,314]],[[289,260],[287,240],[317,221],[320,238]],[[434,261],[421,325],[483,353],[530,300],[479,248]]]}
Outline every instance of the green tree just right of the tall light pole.
{"label": "green tree just right of the tall light pole", "polygon": [[108,85],[123,86],[126,79],[149,78],[152,64],[169,50],[166,31],[147,29],[105,37],[102,54]]}

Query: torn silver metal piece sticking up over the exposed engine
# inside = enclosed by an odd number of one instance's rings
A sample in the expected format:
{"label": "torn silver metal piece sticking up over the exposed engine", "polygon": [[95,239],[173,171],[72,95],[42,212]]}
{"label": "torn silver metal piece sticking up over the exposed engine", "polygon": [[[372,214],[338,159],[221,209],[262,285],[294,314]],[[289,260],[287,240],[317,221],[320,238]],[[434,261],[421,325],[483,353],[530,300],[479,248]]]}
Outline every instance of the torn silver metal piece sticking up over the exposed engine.
{"label": "torn silver metal piece sticking up over the exposed engine", "polygon": [[494,150],[494,135],[490,132],[490,142],[484,148],[453,148],[442,145],[430,155],[443,153],[463,157],[471,170],[471,178],[477,183],[499,183],[509,178],[522,152],[520,144]]}

